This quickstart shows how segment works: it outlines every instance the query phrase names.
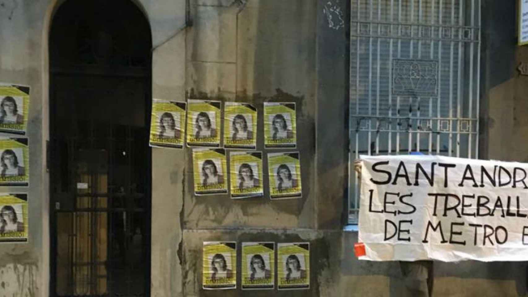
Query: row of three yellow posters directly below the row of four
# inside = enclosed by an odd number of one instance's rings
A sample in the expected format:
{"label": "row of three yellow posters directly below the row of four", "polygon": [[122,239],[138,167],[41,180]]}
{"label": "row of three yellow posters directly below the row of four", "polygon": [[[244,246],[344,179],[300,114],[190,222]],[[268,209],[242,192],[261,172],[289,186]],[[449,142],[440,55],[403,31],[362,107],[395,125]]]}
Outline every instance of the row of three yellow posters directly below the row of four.
{"label": "row of three yellow posters directly below the row of four", "polygon": [[[240,199],[263,196],[261,151],[231,151],[229,193]],[[302,195],[299,152],[267,154],[271,199],[299,198]],[[193,150],[194,194],[227,194],[228,162],[224,149]]]}

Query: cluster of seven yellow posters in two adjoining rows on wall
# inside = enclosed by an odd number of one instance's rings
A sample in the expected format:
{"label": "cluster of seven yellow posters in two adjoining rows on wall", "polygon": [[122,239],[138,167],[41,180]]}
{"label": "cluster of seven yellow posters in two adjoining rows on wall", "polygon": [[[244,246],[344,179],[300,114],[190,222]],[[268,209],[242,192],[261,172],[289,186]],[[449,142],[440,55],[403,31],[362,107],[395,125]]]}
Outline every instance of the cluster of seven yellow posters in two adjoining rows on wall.
{"label": "cluster of seven yellow posters in two adjoining rows on wall", "polygon": [[[221,133],[221,101],[153,99],[150,146],[183,148],[186,142],[194,148],[195,195],[229,192],[234,199],[263,196],[263,154],[256,151],[257,114],[249,103],[225,102]],[[265,102],[263,114],[264,147],[296,148],[295,103]],[[230,164],[225,150],[220,148],[221,135],[223,148],[239,150],[230,152]],[[270,198],[301,197],[299,152],[269,153],[267,159]]]}

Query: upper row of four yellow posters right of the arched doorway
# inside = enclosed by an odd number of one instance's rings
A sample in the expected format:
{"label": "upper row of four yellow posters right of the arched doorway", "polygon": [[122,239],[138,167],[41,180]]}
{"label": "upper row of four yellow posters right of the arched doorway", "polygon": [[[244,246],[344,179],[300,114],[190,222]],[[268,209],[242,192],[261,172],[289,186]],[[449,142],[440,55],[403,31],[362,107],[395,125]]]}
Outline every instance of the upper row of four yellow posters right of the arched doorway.
{"label": "upper row of four yellow posters right of the arched doorway", "polygon": [[[153,99],[150,146],[183,148],[186,142],[188,147],[220,148],[221,107],[221,101]],[[296,148],[296,126],[294,102],[264,103],[265,148]],[[225,102],[223,147],[254,150],[257,134],[257,109],[249,103]]]}

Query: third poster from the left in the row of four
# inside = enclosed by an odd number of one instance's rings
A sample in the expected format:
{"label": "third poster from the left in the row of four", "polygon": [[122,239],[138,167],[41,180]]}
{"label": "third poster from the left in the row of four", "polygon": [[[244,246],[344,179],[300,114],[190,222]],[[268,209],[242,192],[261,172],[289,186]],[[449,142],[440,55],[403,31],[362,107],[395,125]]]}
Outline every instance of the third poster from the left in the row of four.
{"label": "third poster from the left in the row of four", "polygon": [[248,103],[225,102],[224,147],[257,148],[257,109]]}

